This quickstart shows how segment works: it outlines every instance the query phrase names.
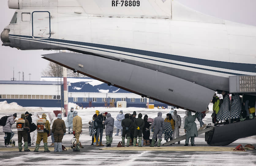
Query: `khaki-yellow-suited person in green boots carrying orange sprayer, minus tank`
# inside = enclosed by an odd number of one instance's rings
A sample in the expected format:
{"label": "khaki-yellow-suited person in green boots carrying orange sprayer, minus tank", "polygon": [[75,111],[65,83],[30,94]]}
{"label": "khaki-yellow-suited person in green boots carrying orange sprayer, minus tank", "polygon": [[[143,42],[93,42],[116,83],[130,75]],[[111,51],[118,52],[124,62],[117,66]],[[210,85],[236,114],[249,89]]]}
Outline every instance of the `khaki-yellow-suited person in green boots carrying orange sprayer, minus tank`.
{"label": "khaki-yellow-suited person in green boots carrying orange sprayer, minus tank", "polygon": [[40,142],[42,141],[42,139],[43,139],[43,145],[44,145],[44,152],[50,152],[50,150],[48,149],[48,146],[47,146],[47,136],[48,136],[49,131],[50,131],[50,123],[46,119],[46,114],[45,113],[42,114],[42,118],[46,120],[46,123],[45,123],[46,128],[44,128],[44,132],[38,132],[37,133],[36,148],[35,148],[34,152],[38,152]]}

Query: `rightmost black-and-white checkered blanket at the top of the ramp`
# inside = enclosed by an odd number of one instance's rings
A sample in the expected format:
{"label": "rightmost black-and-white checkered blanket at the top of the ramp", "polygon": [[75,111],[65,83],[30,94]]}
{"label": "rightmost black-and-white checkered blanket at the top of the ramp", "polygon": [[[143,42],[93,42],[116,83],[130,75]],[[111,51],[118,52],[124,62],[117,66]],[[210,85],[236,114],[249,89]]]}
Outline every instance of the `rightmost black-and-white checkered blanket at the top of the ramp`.
{"label": "rightmost black-and-white checkered blanket at the top of the ramp", "polygon": [[232,95],[232,103],[230,109],[230,119],[239,118],[241,114],[242,106],[240,96],[238,94]]}

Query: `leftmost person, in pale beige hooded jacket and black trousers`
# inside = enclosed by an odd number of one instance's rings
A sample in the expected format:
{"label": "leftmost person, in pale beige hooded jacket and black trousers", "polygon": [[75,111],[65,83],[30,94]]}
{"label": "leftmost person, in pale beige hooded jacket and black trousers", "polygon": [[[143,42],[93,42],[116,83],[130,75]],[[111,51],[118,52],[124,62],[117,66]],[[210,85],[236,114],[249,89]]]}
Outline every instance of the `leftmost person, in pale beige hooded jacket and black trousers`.
{"label": "leftmost person, in pale beige hooded jacket and black trousers", "polygon": [[11,145],[9,145],[10,143],[10,139],[11,139],[11,134],[12,134],[12,125],[16,122],[16,120],[14,120],[17,117],[17,114],[13,114],[13,115],[7,115],[7,120],[6,120],[6,124],[5,126],[3,126],[3,132],[5,133],[5,147],[12,147]]}

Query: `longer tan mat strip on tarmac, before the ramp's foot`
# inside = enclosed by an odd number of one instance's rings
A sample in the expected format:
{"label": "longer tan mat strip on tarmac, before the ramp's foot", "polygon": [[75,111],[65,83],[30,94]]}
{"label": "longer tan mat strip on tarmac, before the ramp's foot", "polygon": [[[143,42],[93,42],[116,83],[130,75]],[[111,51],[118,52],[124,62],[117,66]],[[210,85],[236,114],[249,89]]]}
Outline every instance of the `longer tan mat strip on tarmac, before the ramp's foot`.
{"label": "longer tan mat strip on tarmac, before the ramp's foot", "polygon": [[[124,151],[206,151],[206,152],[233,152],[233,147],[216,146],[174,146],[174,147],[106,147],[100,150],[124,150]],[[237,150],[234,152],[238,152]],[[239,151],[242,152],[242,151]]]}

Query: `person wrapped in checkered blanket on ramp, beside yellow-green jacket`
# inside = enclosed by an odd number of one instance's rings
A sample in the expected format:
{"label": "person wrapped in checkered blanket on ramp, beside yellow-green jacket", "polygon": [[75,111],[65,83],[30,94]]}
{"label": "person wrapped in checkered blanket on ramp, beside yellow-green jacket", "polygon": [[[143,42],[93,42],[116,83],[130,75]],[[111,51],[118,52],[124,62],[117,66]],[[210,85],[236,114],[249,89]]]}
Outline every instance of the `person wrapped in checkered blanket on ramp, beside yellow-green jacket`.
{"label": "person wrapped in checkered blanket on ramp, beside yellow-green jacket", "polygon": [[220,105],[220,110],[217,114],[217,121],[228,121],[230,116],[230,100],[226,91],[222,91],[223,103]]}

